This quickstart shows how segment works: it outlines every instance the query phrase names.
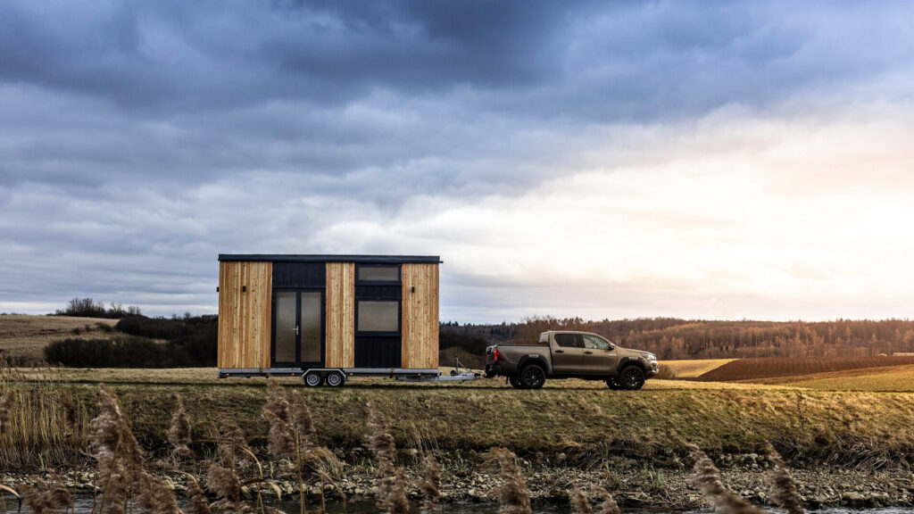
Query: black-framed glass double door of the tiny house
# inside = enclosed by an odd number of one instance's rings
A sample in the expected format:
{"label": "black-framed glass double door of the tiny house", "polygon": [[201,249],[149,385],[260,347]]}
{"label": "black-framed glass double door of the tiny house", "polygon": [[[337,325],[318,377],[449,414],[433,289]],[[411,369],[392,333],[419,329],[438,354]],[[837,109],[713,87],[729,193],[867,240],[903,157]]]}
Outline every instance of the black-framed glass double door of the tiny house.
{"label": "black-framed glass double door of the tiny house", "polygon": [[271,366],[324,366],[323,290],[273,293]]}

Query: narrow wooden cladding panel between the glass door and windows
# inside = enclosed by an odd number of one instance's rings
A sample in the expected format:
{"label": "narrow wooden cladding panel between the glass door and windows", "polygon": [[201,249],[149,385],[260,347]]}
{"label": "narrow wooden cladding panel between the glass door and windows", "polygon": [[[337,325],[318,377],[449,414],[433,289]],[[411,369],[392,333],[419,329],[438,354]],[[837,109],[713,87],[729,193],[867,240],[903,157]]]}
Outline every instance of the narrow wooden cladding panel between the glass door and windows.
{"label": "narrow wooden cladding panel between the glass door and windows", "polygon": [[324,366],[356,365],[356,264],[327,262]]}

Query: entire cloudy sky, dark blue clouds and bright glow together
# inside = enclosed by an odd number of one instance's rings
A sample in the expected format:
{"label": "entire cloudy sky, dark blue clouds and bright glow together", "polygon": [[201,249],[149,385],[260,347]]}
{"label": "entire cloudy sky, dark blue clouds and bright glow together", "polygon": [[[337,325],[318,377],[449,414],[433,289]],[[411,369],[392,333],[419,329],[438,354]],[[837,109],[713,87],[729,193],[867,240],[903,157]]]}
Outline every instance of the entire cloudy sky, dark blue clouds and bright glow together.
{"label": "entire cloudy sky, dark blue clouds and bright glow together", "polygon": [[0,312],[441,255],[441,317],[914,315],[907,2],[0,3]]}

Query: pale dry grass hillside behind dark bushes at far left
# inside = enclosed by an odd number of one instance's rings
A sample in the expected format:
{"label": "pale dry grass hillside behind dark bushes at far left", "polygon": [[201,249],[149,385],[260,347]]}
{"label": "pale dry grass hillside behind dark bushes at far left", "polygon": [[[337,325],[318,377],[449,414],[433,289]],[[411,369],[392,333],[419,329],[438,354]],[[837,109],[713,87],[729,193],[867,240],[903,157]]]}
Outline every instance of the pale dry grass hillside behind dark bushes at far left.
{"label": "pale dry grass hillside behind dark bushes at far left", "polygon": [[67,337],[109,337],[111,333],[99,324],[114,327],[117,322],[97,317],[0,316],[0,349],[17,360],[41,360],[45,347],[52,341]]}

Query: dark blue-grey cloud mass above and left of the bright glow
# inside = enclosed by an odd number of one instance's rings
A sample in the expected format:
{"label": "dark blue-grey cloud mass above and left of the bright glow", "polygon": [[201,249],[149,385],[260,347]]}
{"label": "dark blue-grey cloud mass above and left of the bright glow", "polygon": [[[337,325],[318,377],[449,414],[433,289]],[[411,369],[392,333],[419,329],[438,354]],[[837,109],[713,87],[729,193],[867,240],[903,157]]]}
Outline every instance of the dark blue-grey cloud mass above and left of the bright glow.
{"label": "dark blue-grey cloud mass above and left of the bright glow", "polygon": [[218,252],[396,251],[327,230],[611,167],[613,128],[905,99],[910,10],[0,2],[0,302],[211,306]]}

